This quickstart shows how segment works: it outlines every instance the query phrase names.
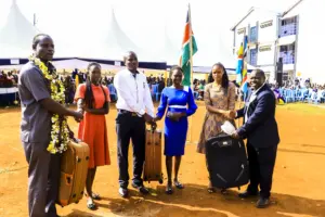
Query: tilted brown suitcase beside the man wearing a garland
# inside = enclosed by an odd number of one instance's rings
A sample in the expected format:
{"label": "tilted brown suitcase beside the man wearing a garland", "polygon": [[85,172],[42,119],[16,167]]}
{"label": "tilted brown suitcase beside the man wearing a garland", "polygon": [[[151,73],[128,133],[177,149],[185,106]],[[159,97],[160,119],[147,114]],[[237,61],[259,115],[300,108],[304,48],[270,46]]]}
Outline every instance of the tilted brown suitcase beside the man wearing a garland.
{"label": "tilted brown suitcase beside the man wearing a garland", "polygon": [[67,206],[83,196],[89,163],[89,146],[70,141],[61,159],[61,181],[57,203]]}

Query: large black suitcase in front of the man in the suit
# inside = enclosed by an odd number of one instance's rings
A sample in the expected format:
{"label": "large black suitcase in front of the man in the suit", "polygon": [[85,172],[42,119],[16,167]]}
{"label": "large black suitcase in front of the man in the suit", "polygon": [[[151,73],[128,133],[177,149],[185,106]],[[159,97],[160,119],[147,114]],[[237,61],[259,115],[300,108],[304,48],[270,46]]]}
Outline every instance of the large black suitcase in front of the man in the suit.
{"label": "large black suitcase in front of the man in the suit", "polygon": [[248,183],[248,161],[243,140],[220,133],[206,143],[208,171],[216,188],[234,188]]}

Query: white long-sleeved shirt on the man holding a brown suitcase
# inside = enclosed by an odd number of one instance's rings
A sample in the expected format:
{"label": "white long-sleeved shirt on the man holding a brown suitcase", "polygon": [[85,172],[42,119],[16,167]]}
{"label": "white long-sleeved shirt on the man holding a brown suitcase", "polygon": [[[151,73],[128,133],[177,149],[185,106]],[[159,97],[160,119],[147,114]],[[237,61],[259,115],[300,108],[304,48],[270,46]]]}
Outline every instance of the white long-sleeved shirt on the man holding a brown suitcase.
{"label": "white long-sleeved shirt on the man holding a brown suitcase", "polygon": [[155,117],[155,107],[146,77],[138,73],[135,78],[129,69],[122,69],[114,77],[117,92],[116,108],[135,112],[142,116],[145,113]]}

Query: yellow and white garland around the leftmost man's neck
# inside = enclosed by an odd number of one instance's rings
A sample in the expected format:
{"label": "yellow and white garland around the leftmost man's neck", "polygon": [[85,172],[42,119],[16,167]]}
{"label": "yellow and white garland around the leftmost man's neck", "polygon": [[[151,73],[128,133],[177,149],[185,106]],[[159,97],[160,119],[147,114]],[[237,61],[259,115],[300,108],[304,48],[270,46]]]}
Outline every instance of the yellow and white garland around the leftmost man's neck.
{"label": "yellow and white garland around the leftmost man's neck", "polygon": [[[65,88],[55,72],[50,73],[49,67],[35,56],[30,56],[31,61],[42,72],[44,78],[49,80],[51,88],[51,99],[60,104],[65,103]],[[51,64],[51,63],[50,63]],[[69,142],[69,130],[67,126],[67,119],[64,116],[53,114],[51,128],[51,141],[48,146],[48,151],[51,154],[63,153],[67,150]]]}

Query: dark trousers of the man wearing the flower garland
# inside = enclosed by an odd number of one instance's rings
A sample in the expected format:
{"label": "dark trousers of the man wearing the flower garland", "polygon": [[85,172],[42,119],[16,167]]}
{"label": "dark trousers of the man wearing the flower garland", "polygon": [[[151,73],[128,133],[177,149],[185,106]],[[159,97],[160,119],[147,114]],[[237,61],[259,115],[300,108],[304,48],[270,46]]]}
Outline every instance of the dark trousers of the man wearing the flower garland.
{"label": "dark trousers of the man wearing the flower garland", "polygon": [[24,142],[28,167],[29,217],[56,217],[61,155],[47,151],[49,143]]}

